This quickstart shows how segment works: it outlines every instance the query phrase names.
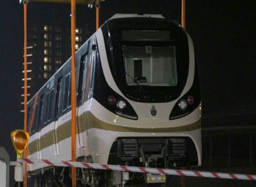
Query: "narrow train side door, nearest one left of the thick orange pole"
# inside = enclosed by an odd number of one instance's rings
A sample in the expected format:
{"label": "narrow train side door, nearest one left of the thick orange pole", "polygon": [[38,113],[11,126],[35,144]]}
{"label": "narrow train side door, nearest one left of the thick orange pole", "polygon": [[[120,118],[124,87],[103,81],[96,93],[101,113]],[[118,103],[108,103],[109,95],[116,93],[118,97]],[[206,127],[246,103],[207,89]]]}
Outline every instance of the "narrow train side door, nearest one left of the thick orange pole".
{"label": "narrow train side door, nearest one left of the thick orange pole", "polygon": [[55,109],[54,109],[54,145],[55,145],[55,155],[59,154],[59,142],[58,142],[58,122],[59,122],[59,108],[60,108],[60,89],[62,87],[62,76],[57,81],[57,87],[56,87],[56,100],[55,100]]}

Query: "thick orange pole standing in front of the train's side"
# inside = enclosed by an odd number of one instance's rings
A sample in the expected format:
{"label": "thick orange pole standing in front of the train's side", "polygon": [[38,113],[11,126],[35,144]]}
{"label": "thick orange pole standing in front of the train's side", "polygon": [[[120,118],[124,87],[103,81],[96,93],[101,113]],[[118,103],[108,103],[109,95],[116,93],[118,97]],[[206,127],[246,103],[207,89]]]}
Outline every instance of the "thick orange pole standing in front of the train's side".
{"label": "thick orange pole standing in front of the train's side", "polygon": [[[72,73],[71,73],[71,158],[76,162],[76,72],[75,72],[75,41],[76,38],[76,0],[71,0],[71,50],[72,50]],[[72,187],[76,187],[76,167],[71,169]]]}

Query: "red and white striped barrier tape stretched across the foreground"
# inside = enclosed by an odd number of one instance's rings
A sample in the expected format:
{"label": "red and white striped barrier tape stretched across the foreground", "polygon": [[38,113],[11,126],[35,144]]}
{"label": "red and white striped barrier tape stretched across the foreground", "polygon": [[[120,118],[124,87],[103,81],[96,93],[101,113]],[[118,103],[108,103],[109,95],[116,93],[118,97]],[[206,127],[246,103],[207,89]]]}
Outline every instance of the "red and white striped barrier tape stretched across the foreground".
{"label": "red and white striped barrier tape stretched across the foreground", "polygon": [[84,167],[84,168],[88,168],[88,169],[141,172],[141,173],[179,175],[179,176],[191,176],[191,177],[210,177],[210,178],[225,178],[225,179],[239,179],[239,180],[256,180],[256,175],[243,175],[243,174],[234,174],[234,173],[156,169],[156,168],[151,168],[151,167],[104,165],[104,164],[70,162],[70,161],[60,161],[60,160],[46,160],[46,159],[39,160],[39,159],[32,159],[32,158],[31,159],[22,158],[17,161],[21,162],[21,163],[27,163],[27,164],[45,164],[48,166],[54,165],[54,166],[68,166],[68,167]]}

